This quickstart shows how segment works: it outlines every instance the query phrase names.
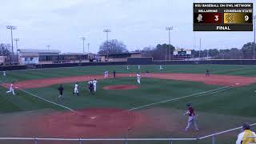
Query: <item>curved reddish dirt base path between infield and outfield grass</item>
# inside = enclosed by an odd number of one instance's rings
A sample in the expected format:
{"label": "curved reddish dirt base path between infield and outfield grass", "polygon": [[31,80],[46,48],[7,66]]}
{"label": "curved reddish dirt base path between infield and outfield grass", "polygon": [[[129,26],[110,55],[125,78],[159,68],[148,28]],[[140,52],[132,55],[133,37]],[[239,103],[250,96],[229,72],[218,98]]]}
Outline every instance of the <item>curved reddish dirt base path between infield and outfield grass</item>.
{"label": "curved reddish dirt base path between infield and outfield grass", "polygon": [[[136,74],[117,74],[117,78],[134,77]],[[206,77],[204,74],[142,74],[142,77],[147,78],[159,78],[159,79],[171,79],[190,82],[204,82],[208,85],[218,86],[247,86],[256,82],[256,78],[242,77],[242,76],[230,76],[230,75],[211,75]],[[64,78],[46,78],[46,79],[34,79],[27,81],[16,82],[15,86],[20,89],[28,88],[40,88],[46,86],[52,86],[61,83],[70,82],[87,82],[90,79],[104,79],[102,75],[83,75],[76,77],[64,77]],[[1,86],[9,88],[10,83],[2,83]]]}

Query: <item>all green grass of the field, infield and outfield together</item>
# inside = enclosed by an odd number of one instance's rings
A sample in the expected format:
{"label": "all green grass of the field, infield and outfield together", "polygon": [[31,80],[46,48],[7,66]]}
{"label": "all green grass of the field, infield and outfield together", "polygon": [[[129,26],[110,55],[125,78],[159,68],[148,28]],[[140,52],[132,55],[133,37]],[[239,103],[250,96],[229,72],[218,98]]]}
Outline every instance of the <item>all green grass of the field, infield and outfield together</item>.
{"label": "all green grass of the field, infield and outfield together", "polygon": [[[154,73],[161,72],[204,74],[206,69],[209,69],[211,74],[256,77],[256,66],[174,65],[163,67],[164,70],[159,71],[159,66],[141,66],[141,72],[149,70],[150,72]],[[105,70],[109,70],[110,72],[116,70],[117,73],[135,73],[138,71],[137,66],[130,66],[129,71],[126,70],[126,66],[86,66],[44,70],[20,70],[7,71],[7,76],[0,76],[0,81],[12,82],[14,80],[22,81],[39,78],[103,74]],[[115,107],[130,110],[150,103],[181,98],[190,94],[198,94],[203,91],[214,90],[222,87],[205,85],[202,82],[184,82],[160,80],[154,78],[142,78],[142,85],[137,90],[102,90],[102,86],[118,84],[136,84],[136,79],[116,78],[99,81],[98,91],[95,95],[88,95],[87,90],[82,88],[82,86],[86,86],[86,83],[80,82],[80,97],[74,96],[72,94],[74,83],[67,83],[63,85],[65,88],[65,99],[62,100],[60,104],[74,110],[92,107]],[[36,94],[39,97],[46,98],[51,102],[56,102],[56,98],[58,96],[58,90],[56,90],[57,87],[58,86],[49,86],[38,89],[27,89],[26,91],[32,94]],[[181,98],[176,101],[142,107],[142,109],[139,110],[160,107],[170,111],[175,111],[174,114],[177,113],[178,115],[181,111],[186,110],[185,104],[187,102],[192,102],[198,113],[201,115],[208,114],[207,118],[212,118],[213,120],[213,122],[209,122],[209,119],[203,122],[201,121],[200,124],[203,126],[209,126],[212,123],[211,126],[213,126],[213,128],[214,126],[217,127],[216,130],[226,130],[228,128],[238,126],[239,121],[246,119],[249,122],[254,122],[254,120],[256,120],[256,94],[254,93],[254,90],[256,90],[256,84],[250,86],[235,87],[214,94],[207,93],[201,97],[194,95],[188,98]],[[11,96],[10,94],[5,94],[6,89],[0,87],[0,113],[10,113],[25,110],[41,110],[46,108],[54,110],[65,110],[60,106],[55,106],[49,102],[34,98],[30,94],[26,94],[22,91],[18,90],[16,92],[18,93],[17,96]],[[180,134],[173,135],[178,137]],[[157,136],[159,135],[150,135],[149,137]],[[168,135],[162,134],[161,136],[166,138]],[[232,136],[231,138],[235,137]],[[221,139],[223,140],[222,143],[234,143],[233,139]],[[196,143],[204,142],[202,141]]]}

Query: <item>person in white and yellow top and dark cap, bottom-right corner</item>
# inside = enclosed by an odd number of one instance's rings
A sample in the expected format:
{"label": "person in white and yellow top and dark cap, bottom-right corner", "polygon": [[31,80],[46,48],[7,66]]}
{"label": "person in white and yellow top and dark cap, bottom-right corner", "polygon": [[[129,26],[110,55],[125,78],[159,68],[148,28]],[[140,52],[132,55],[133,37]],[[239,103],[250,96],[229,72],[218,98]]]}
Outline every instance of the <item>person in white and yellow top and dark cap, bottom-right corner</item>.
{"label": "person in white and yellow top and dark cap, bottom-right corner", "polygon": [[256,138],[248,138],[250,136],[256,137],[256,134],[250,130],[250,125],[248,123],[244,123],[242,125],[243,132],[238,134],[238,140],[236,144],[249,144],[256,142]]}

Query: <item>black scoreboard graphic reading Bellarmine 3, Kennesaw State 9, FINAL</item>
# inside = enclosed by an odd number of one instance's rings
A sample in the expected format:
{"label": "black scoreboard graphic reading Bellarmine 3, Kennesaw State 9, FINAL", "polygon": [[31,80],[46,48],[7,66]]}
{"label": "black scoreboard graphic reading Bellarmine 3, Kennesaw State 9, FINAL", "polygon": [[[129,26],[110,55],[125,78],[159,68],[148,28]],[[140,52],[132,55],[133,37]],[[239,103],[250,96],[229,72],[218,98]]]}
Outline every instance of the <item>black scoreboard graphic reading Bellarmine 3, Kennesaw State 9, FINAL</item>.
{"label": "black scoreboard graphic reading Bellarmine 3, Kennesaw State 9, FINAL", "polygon": [[194,3],[194,31],[253,31],[253,3]]}

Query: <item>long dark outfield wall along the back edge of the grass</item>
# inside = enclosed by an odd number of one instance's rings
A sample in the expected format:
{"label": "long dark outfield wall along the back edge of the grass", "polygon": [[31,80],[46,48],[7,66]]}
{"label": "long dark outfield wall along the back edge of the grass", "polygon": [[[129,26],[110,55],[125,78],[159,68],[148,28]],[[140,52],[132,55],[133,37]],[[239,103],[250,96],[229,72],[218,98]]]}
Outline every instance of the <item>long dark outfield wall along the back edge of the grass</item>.
{"label": "long dark outfield wall along the back edge of the grass", "polygon": [[0,71],[6,70],[26,70],[26,69],[44,69],[57,67],[76,67],[76,66],[111,66],[111,65],[200,65],[200,64],[218,64],[218,65],[256,65],[256,60],[204,60],[204,61],[140,61],[130,62],[84,62],[84,63],[63,63],[63,64],[38,64],[29,66],[0,66]]}

